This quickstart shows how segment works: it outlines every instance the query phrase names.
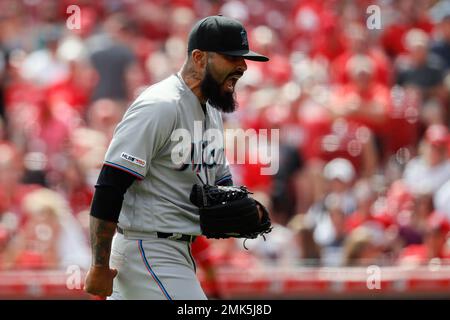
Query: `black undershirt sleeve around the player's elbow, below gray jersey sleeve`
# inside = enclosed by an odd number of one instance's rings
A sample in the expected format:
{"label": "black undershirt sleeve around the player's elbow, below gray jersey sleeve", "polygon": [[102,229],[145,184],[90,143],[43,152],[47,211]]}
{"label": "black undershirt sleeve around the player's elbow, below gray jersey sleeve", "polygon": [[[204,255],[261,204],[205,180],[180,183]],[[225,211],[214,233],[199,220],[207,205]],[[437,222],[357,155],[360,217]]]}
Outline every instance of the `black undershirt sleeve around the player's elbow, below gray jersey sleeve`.
{"label": "black undershirt sleeve around the player's elbow, below gray jersey sleeve", "polygon": [[91,216],[118,222],[123,196],[136,177],[120,169],[103,165],[95,185]]}

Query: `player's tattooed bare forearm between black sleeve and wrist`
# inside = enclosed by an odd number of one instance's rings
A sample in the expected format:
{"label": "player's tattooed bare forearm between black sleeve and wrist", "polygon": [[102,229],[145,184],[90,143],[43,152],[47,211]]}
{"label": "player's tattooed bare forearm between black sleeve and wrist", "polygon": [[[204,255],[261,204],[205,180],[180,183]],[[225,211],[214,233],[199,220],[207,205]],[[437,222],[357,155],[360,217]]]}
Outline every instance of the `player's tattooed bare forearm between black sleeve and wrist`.
{"label": "player's tattooed bare forearm between black sleeve and wrist", "polygon": [[90,216],[92,265],[109,266],[111,242],[117,223]]}

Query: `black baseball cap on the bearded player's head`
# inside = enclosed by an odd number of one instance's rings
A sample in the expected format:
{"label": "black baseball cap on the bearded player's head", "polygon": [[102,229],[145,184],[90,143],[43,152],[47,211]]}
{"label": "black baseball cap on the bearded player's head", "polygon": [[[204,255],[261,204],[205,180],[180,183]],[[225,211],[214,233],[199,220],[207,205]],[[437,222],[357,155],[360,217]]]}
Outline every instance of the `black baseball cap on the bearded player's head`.
{"label": "black baseball cap on the bearded player's head", "polygon": [[209,16],[194,25],[189,33],[188,52],[194,49],[269,61],[266,56],[249,49],[247,31],[242,23],[224,16]]}

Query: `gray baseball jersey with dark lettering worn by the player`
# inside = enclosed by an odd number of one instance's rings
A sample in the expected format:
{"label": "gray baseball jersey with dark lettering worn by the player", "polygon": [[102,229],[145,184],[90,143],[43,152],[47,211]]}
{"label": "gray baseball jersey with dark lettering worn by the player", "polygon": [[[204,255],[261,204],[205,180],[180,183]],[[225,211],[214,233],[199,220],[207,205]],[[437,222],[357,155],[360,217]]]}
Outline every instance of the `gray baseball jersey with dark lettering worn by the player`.
{"label": "gray baseball jersey with dark lettering worn by the player", "polygon": [[[208,129],[223,131],[220,112],[209,105],[204,112],[179,74],[149,87],[133,102],[105,156],[105,165],[138,178],[124,196],[121,228],[200,234],[198,209],[189,200],[192,185],[199,182],[197,174],[210,184],[231,178],[223,137],[219,144],[216,141],[219,147],[207,153],[214,161],[204,160],[203,151],[211,141],[202,133]],[[189,133],[192,139],[191,143],[184,141],[181,163],[173,160],[174,150],[180,149],[180,135],[174,133]],[[197,161],[199,155],[201,161]]]}

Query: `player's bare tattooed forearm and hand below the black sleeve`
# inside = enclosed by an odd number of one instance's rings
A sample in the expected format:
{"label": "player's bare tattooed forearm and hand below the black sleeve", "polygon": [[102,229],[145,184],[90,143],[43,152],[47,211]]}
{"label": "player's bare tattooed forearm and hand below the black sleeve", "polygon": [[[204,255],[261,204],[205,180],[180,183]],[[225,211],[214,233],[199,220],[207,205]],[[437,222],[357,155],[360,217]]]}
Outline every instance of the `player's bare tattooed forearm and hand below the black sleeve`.
{"label": "player's bare tattooed forearm and hand below the black sleeve", "polygon": [[113,279],[117,270],[110,269],[111,242],[117,223],[90,217],[92,263],[86,276],[86,292],[107,297],[112,294]]}

